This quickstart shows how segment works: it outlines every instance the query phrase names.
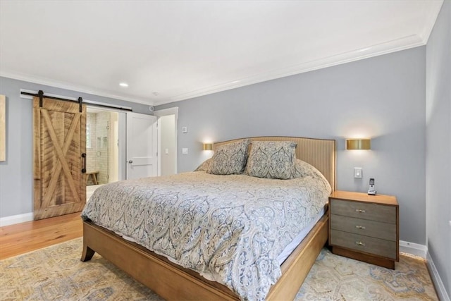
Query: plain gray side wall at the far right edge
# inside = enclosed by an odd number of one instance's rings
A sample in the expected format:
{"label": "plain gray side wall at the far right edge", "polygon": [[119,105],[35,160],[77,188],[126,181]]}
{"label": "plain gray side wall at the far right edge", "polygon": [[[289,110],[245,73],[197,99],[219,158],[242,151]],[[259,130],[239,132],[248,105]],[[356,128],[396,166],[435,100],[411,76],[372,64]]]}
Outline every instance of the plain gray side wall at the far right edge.
{"label": "plain gray side wall at the far right edge", "polygon": [[451,2],[426,47],[426,240],[451,296]]}

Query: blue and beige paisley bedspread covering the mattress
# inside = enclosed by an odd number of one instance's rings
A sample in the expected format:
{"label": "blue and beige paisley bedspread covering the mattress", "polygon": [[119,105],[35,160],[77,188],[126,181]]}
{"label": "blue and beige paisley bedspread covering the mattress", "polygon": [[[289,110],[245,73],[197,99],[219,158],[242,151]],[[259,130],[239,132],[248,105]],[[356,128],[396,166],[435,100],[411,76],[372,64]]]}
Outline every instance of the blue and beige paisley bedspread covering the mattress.
{"label": "blue and beige paisley bedspread covering the mattress", "polygon": [[197,171],[98,188],[82,218],[168,257],[242,300],[264,300],[278,254],[328,201],[316,176],[272,180]]}

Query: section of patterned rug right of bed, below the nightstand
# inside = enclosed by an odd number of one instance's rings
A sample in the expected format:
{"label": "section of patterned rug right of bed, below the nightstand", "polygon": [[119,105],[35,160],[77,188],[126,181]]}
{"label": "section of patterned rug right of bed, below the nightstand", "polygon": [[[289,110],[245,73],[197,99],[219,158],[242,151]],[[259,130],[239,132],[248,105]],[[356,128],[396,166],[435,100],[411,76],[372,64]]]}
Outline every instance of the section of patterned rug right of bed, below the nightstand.
{"label": "section of patterned rug right of bed, below the nightstand", "polygon": [[295,300],[438,300],[426,261],[400,254],[395,270],[323,249]]}

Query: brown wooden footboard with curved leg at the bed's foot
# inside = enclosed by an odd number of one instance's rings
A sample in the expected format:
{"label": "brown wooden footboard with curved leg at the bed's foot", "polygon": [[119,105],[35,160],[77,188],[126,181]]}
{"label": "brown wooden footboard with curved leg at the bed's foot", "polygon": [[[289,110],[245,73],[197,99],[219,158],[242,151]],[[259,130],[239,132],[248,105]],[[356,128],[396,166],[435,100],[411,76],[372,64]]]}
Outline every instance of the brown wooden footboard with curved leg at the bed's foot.
{"label": "brown wooden footboard with curved leg at the bed's foot", "polygon": [[81,260],[91,259],[94,252],[166,300],[239,300],[226,286],[208,281],[135,242],[85,221]]}

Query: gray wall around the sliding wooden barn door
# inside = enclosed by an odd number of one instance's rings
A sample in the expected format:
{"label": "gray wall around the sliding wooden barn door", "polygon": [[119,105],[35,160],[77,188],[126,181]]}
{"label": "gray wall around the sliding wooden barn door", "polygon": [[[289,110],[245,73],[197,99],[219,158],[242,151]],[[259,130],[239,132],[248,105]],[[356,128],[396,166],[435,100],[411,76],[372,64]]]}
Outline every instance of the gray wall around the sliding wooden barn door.
{"label": "gray wall around the sliding wooden barn door", "polygon": [[130,106],[137,113],[150,113],[149,106],[144,104],[0,77],[0,94],[6,95],[6,161],[0,162],[0,217],[33,211],[32,100],[20,98],[20,89],[83,97],[95,102]]}

